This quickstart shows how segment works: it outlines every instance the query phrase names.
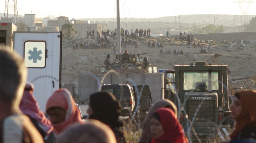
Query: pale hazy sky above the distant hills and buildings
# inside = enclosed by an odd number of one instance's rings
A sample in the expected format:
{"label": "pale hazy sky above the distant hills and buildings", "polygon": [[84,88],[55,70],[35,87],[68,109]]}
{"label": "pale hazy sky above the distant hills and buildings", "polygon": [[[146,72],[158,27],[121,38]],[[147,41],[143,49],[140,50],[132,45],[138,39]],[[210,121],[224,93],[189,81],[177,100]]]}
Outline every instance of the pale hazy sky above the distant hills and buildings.
{"label": "pale hazy sky above the distant hills and buildings", "polygon": [[[10,0],[11,1],[11,0]],[[234,0],[126,0],[131,17],[156,18],[184,14],[241,14],[239,3]],[[116,0],[17,0],[19,15],[36,14],[71,18],[109,18],[114,16]],[[233,3],[232,3],[233,2]],[[0,13],[4,13],[5,0],[0,2]],[[124,6],[123,6],[124,4]],[[243,7],[246,9],[247,3]],[[120,16],[130,17],[125,0],[120,0]],[[116,13],[116,12],[115,12]],[[250,6],[249,14],[256,14],[256,2]],[[116,14],[115,14],[116,17]]]}

